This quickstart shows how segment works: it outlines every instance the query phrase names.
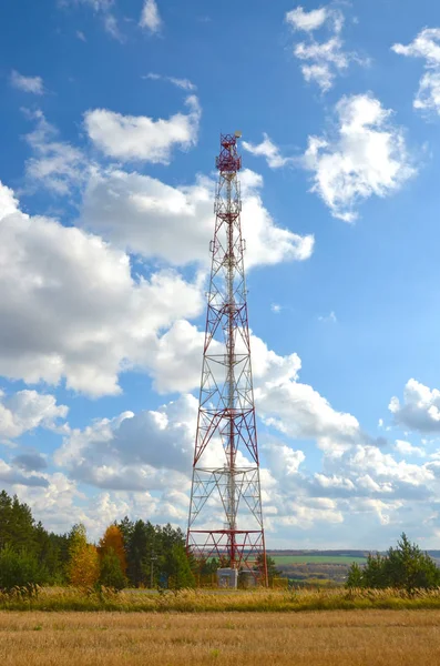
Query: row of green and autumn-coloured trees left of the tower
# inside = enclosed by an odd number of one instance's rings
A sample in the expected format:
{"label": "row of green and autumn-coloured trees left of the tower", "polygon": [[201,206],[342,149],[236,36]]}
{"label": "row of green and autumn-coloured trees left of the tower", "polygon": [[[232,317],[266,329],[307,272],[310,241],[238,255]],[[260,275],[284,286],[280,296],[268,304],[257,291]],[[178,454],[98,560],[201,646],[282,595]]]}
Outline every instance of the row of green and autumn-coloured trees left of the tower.
{"label": "row of green and autumn-coloured trees left of the tower", "polygon": [[193,587],[184,534],[171,525],[125,517],[109,525],[98,544],[84,525],[48,532],[30,507],[0,492],[0,589],[35,585]]}

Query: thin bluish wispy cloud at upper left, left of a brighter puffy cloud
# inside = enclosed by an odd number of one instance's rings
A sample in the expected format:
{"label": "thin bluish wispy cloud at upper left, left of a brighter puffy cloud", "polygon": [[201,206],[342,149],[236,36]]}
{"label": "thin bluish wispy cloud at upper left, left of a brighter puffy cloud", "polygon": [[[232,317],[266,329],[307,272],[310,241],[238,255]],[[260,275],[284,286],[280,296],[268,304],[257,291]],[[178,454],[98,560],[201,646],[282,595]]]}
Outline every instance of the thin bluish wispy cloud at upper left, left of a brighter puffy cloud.
{"label": "thin bluish wispy cloud at upper left, left of a brighter puffy cloud", "polygon": [[33,132],[25,140],[35,153],[25,162],[28,181],[44,186],[57,194],[69,194],[71,188],[81,184],[89,165],[80,150],[58,140],[58,130],[50,124],[41,111],[25,111],[29,119],[37,121]]}

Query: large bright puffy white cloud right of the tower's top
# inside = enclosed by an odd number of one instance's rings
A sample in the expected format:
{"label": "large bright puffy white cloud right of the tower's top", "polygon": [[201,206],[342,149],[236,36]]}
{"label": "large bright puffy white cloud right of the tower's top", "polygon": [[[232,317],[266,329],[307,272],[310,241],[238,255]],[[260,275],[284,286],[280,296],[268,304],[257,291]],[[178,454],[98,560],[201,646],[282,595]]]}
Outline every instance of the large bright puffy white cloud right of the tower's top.
{"label": "large bright puffy white cloud right of the tower's top", "polygon": [[352,222],[357,204],[398,190],[416,169],[401,128],[371,94],[344,97],[336,104],[334,140],[309,137],[304,165],[314,172],[316,192],[335,218]]}

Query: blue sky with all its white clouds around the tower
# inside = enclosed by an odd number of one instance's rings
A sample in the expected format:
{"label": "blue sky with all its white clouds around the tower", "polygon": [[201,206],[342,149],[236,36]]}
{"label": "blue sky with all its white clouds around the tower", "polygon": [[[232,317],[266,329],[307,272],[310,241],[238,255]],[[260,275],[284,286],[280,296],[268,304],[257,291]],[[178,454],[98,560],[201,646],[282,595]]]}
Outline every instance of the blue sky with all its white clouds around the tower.
{"label": "blue sky with all its white clouds around the tower", "polygon": [[57,531],[185,526],[239,129],[267,544],[437,547],[440,10],[17,0],[0,31],[0,485]]}

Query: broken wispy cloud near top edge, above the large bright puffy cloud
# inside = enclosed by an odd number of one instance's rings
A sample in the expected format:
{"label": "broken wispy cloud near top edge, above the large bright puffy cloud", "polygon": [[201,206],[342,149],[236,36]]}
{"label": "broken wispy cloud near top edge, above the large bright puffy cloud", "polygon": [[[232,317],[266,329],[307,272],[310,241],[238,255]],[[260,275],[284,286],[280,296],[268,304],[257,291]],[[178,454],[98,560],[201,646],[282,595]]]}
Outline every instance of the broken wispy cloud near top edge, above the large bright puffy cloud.
{"label": "broken wispy cloud near top edge, above the large bright puffy cloud", "polygon": [[[307,33],[307,41],[297,42],[294,56],[301,61],[301,72],[307,82],[316,82],[323,92],[332,88],[338,74],[348,69],[350,62],[364,63],[357,53],[345,51],[340,37],[344,14],[330,6],[305,11],[303,7],[288,11],[285,16],[290,28]],[[314,31],[326,28],[329,38],[317,41]]]}

